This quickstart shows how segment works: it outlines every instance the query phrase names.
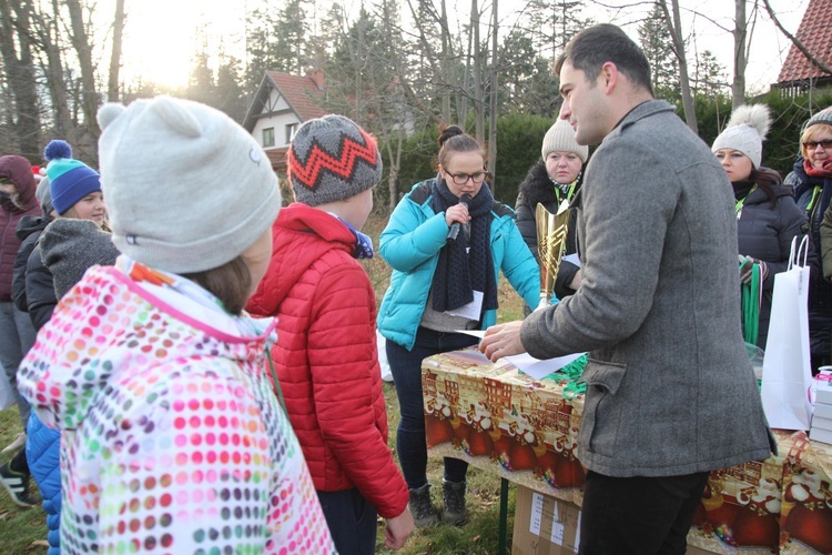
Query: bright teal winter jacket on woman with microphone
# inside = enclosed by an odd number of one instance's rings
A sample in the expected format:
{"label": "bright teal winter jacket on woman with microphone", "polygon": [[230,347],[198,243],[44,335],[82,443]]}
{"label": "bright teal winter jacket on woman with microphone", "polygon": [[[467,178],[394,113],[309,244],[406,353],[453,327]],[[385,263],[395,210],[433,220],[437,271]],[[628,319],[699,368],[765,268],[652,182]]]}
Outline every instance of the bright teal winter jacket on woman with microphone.
{"label": "bright teal winter jacket on woman with microphone", "polygon": [[[445,214],[437,214],[430,208],[432,183],[433,180],[417,183],[402,199],[382,232],[378,248],[382,258],[393,266],[390,285],[378,311],[378,331],[408,350],[416,341],[416,330],[425,312],[439,251],[448,235]],[[495,201],[491,216],[494,275],[499,280],[503,270],[526,303],[537,306],[540,273],[515,224],[514,211]],[[496,321],[496,311],[487,311],[483,317],[483,330]]]}

